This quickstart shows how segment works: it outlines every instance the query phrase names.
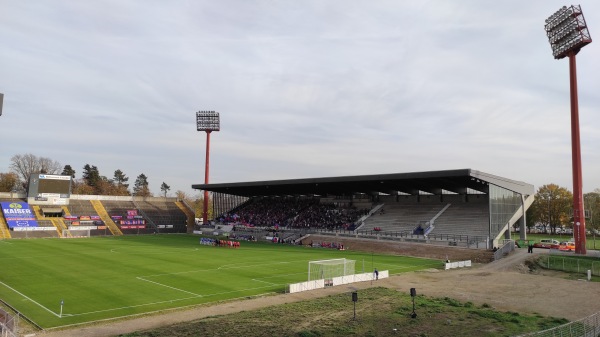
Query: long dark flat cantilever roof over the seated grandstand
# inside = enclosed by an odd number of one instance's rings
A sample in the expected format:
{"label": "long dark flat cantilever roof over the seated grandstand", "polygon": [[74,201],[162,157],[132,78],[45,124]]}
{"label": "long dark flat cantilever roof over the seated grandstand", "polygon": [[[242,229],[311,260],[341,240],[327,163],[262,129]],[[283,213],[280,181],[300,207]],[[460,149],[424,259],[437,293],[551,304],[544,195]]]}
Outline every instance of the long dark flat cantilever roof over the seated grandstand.
{"label": "long dark flat cantilever roof over the seated grandstand", "polygon": [[376,192],[392,194],[395,191],[401,194],[416,195],[419,194],[419,191],[442,194],[442,190],[465,194],[467,193],[467,189],[487,194],[489,184],[525,195],[534,193],[533,185],[472,169],[224,184],[195,184],[192,185],[192,188],[245,197],[349,195]]}

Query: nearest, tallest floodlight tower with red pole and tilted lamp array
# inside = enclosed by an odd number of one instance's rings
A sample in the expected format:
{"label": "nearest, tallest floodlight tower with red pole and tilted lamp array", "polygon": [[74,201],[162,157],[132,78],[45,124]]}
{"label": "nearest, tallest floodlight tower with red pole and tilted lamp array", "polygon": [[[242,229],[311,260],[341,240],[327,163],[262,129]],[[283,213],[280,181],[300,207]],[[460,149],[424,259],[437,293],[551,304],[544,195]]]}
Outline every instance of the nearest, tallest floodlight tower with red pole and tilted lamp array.
{"label": "nearest, tallest floodlight tower with red pole and tilted lamp array", "polygon": [[577,103],[577,69],[575,55],[592,42],[581,6],[563,6],[546,19],[546,34],[555,59],[569,58],[571,87],[571,157],[573,163],[573,237],[575,253],[586,254],[585,215],[581,179],[581,144],[579,142],[579,107]]}

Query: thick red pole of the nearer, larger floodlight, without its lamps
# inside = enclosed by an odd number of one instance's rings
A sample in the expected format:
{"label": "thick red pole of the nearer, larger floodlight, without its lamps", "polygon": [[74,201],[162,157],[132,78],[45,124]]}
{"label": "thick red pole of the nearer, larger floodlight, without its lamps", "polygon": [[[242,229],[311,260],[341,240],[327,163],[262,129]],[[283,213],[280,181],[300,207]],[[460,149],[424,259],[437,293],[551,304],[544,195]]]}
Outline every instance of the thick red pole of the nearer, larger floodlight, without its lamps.
{"label": "thick red pole of the nearer, larger floodlight, without its lamps", "polygon": [[569,53],[569,79],[571,87],[571,155],[573,162],[573,236],[575,253],[585,255],[585,214],[583,211],[583,192],[581,175],[581,144],[579,141],[579,106],[577,102],[577,64],[576,52]]}

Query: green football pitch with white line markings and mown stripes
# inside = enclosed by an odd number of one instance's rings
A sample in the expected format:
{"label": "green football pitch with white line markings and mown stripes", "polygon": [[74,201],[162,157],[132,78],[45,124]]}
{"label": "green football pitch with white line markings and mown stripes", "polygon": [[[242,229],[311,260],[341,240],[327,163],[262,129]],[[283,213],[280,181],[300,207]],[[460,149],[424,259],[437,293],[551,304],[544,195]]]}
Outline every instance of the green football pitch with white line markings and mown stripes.
{"label": "green football pitch with white line markings and mown stripes", "polygon": [[438,260],[195,235],[0,240],[0,299],[42,328],[283,293],[308,262],[347,258],[356,273],[440,268]]}

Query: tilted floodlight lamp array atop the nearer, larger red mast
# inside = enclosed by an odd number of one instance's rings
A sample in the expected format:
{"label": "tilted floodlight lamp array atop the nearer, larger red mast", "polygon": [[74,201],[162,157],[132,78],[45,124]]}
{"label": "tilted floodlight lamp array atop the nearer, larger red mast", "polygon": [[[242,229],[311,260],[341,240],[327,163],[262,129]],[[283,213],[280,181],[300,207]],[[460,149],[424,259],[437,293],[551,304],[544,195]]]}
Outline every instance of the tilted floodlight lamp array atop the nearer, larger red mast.
{"label": "tilted floodlight lamp array atop the nearer, larger red mast", "polygon": [[555,59],[579,50],[592,42],[581,6],[563,6],[546,19],[546,35]]}

